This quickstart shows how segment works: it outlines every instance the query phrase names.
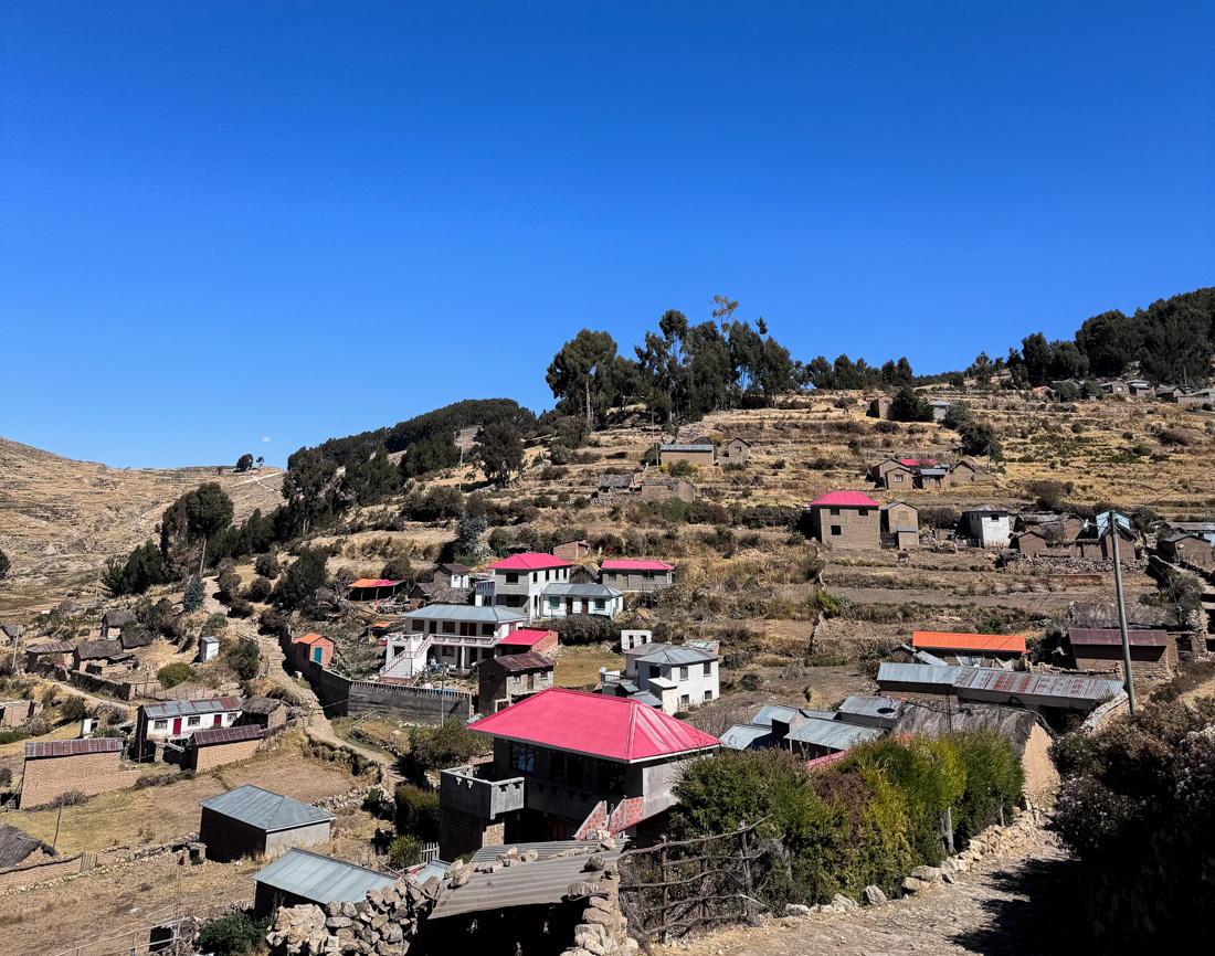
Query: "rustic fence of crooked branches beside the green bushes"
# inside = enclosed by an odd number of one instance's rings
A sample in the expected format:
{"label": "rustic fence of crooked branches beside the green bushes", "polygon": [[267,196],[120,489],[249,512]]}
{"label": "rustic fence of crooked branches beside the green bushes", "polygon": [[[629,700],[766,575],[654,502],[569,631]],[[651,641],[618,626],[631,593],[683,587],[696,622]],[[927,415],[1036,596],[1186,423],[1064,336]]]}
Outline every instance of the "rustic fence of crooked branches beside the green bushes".
{"label": "rustic fence of crooked branches beside the green bushes", "polygon": [[625,852],[620,896],[629,935],[665,943],[701,927],[758,916],[765,907],[755,899],[752,864],[763,856],[756,837],[762,822]]}

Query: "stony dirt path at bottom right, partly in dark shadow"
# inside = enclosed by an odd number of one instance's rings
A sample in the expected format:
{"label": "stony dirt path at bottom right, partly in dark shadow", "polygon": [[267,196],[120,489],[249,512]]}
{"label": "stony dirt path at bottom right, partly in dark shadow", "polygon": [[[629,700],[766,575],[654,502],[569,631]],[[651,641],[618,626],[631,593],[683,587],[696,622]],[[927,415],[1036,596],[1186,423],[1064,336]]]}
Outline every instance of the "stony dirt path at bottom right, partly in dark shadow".
{"label": "stony dirt path at bottom right, partly in dark shadow", "polygon": [[1079,864],[1038,831],[1015,856],[985,856],[954,884],[850,913],[722,932],[665,956],[1074,956]]}

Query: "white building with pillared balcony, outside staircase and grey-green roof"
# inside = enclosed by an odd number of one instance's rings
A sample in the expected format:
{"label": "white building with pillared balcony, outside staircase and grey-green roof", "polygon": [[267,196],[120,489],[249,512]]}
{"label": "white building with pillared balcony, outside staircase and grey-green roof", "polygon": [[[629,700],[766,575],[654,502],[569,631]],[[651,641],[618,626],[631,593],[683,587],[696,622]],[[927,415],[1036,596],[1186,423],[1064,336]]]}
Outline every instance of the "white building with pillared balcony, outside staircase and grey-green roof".
{"label": "white building with pillared balcony, outside staircase and grey-green roof", "polygon": [[435,664],[467,671],[497,656],[497,645],[522,623],[502,607],[431,604],[405,615],[406,630],[388,635],[382,678],[408,679]]}

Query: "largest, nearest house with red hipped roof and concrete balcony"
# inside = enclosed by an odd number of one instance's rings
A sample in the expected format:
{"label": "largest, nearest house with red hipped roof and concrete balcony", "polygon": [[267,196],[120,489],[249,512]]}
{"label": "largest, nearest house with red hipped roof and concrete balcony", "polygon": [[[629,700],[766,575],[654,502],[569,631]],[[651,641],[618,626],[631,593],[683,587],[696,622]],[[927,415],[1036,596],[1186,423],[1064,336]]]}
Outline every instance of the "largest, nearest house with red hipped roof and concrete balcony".
{"label": "largest, nearest house with red hipped roof and concrete balcony", "polygon": [[493,762],[440,774],[439,852],[571,839],[589,822],[612,833],[656,830],[688,760],[719,746],[627,697],[550,688],[469,730],[493,740]]}

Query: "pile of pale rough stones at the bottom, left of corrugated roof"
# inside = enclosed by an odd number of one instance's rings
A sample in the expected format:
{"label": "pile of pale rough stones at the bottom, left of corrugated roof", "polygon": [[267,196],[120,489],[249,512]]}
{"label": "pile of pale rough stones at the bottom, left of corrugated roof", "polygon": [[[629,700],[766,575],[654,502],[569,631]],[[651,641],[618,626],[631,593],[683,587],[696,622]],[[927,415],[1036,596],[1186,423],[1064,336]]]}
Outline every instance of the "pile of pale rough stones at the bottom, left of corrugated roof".
{"label": "pile of pale rough stones at the bottom, left of corrugated roof", "polygon": [[405,956],[437,896],[436,878],[419,886],[402,877],[358,903],[283,906],[266,945],[275,956]]}

